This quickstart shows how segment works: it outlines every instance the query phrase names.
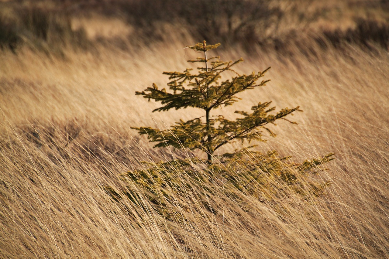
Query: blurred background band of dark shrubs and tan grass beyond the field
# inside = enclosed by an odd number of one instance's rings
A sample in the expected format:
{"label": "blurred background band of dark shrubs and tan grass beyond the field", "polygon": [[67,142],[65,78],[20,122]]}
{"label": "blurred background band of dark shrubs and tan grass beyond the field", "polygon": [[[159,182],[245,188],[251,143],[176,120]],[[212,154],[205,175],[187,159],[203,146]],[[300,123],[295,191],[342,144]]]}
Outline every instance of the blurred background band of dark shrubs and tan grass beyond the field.
{"label": "blurred background band of dark shrubs and tan grass beyond the field", "polygon": [[191,37],[289,55],[297,47],[315,56],[314,45],[325,51],[344,42],[387,49],[388,9],[386,0],[3,0],[0,46],[126,48],[185,45]]}

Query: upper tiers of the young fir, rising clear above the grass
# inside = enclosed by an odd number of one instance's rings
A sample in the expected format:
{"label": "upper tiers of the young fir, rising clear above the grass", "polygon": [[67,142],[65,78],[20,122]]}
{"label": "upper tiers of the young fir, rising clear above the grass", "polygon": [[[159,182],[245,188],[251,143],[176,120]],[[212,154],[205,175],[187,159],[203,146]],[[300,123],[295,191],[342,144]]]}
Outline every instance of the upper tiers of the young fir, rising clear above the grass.
{"label": "upper tiers of the young fir, rising clear above the grass", "polygon": [[[163,72],[169,75],[171,80],[165,88],[159,89],[156,84],[142,92],[136,92],[149,100],[161,102],[162,106],[153,110],[167,111],[172,108],[180,109],[195,107],[203,110],[203,117],[189,121],[176,122],[170,129],[159,130],[151,127],[133,128],[141,135],[145,134],[155,147],[173,146],[175,148],[200,149],[207,154],[207,162],[213,163],[214,152],[233,140],[244,142],[247,140],[263,141],[263,129],[271,136],[275,134],[267,128],[268,124],[275,124],[279,119],[299,110],[299,107],[284,108],[275,114],[270,114],[275,107],[269,107],[270,101],[258,103],[251,108],[251,112],[235,111],[242,117],[230,120],[222,115],[215,115],[213,111],[221,106],[232,105],[240,100],[237,94],[256,87],[265,86],[270,80],[260,80],[270,69],[249,75],[240,75],[233,70],[233,66],[242,62],[219,61],[219,57],[207,57],[207,52],[216,49],[220,44],[206,45],[197,43],[189,48],[203,53],[203,57],[188,62],[200,63],[197,72],[186,69],[184,72]],[[224,72],[233,72],[235,76],[228,80],[222,80]],[[291,121],[289,121],[291,122]],[[296,122],[291,122],[296,123]]]}

